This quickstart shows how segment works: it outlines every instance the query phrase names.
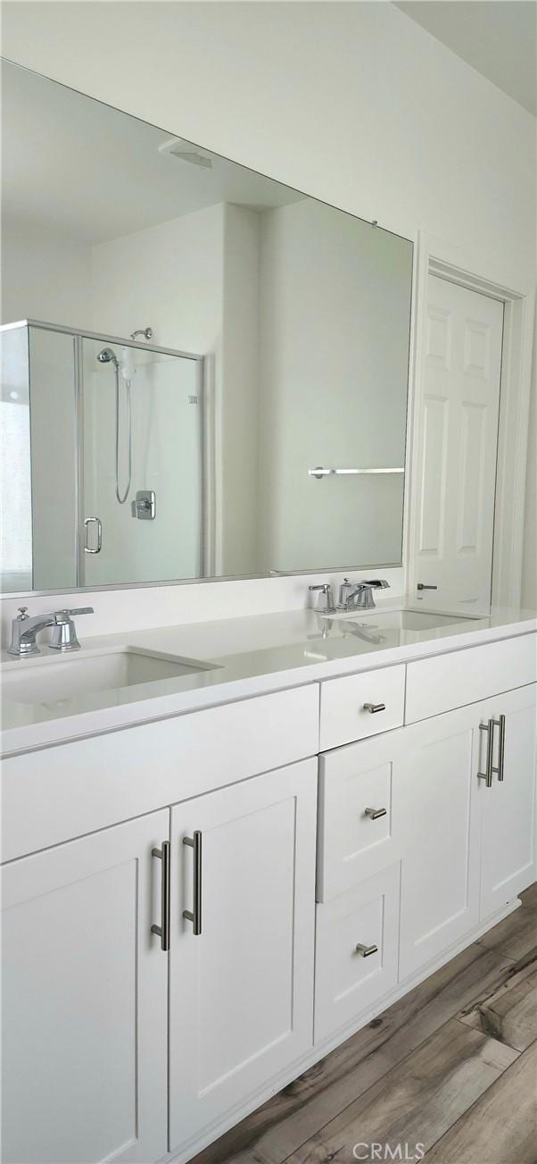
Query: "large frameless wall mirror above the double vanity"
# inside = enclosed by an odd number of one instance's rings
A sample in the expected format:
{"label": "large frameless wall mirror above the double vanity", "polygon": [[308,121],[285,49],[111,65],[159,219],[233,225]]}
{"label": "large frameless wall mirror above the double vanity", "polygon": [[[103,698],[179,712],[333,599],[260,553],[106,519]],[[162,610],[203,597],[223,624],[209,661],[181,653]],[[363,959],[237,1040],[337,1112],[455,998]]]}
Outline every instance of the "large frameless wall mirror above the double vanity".
{"label": "large frameless wall mirror above the double vanity", "polygon": [[2,588],[395,566],[413,246],[3,65]]}

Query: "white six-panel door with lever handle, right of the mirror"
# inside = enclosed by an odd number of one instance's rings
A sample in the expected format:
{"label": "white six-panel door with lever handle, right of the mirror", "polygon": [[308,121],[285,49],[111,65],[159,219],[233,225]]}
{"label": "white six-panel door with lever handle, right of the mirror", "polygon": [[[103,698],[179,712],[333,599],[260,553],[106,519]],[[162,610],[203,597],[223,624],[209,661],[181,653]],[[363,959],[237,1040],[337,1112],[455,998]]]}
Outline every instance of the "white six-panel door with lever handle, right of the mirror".
{"label": "white six-panel door with lever handle, right of the mirror", "polygon": [[468,613],[491,602],[503,304],[429,276],[410,573]]}

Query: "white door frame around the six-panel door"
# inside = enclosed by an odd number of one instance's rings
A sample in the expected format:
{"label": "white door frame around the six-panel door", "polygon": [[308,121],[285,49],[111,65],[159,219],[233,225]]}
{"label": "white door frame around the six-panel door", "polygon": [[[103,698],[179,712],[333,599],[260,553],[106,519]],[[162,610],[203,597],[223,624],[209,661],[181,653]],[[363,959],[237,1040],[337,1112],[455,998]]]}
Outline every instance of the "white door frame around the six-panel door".
{"label": "white door frame around the six-panel door", "polygon": [[425,230],[418,230],[414,264],[411,392],[408,416],[409,473],[404,499],[408,514],[404,537],[407,591],[414,595],[416,585],[411,552],[418,517],[415,425],[422,386],[429,275],[439,275],[470,291],[493,296],[504,305],[492,601],[501,606],[520,606],[535,289],[521,278],[518,272],[500,268],[491,260],[453,247]]}

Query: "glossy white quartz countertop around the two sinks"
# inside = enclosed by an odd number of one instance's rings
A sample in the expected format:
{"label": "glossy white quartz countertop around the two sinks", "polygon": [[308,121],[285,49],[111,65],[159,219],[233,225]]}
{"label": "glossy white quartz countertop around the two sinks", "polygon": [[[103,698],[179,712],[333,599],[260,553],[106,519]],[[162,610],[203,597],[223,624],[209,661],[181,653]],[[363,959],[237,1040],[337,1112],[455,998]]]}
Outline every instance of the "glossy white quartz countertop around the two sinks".
{"label": "glossy white quartz countertop around the two sinks", "polygon": [[[129,648],[198,660],[214,669],[130,687],[116,687],[58,701],[2,701],[3,755],[180,715],[219,703],[318,682],[353,672],[427,658],[446,651],[537,630],[535,611],[491,608],[487,617],[437,627],[400,630],[389,625],[398,610],[450,613],[442,608],[379,601],[374,610],[351,618],[327,618],[313,610],[255,615],[217,622],[163,626],[146,631],[80,639],[77,658]],[[71,656],[72,658],[72,656]],[[1,672],[64,665],[64,656],[42,647],[33,660],[2,652]]]}

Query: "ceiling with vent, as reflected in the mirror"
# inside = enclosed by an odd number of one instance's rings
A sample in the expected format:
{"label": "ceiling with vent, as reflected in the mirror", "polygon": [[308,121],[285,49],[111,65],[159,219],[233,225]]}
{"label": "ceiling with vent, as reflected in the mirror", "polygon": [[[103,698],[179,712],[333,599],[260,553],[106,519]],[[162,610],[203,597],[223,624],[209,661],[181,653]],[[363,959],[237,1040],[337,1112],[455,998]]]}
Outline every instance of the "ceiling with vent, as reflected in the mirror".
{"label": "ceiling with vent, as reflected in the mirror", "polygon": [[2,210],[95,244],[216,203],[262,210],[303,197],[208,150],[213,169],[159,154],[171,136],[5,63]]}

